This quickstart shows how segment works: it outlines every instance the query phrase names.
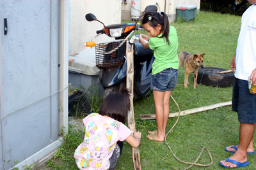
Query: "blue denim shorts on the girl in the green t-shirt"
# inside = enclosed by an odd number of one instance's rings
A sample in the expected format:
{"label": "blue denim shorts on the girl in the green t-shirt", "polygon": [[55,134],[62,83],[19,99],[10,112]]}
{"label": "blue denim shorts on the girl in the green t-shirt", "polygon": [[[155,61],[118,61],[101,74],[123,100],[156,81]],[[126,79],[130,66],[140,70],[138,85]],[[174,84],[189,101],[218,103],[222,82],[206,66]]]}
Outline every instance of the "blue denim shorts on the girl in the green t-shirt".
{"label": "blue denim shorts on the girl in the green t-shirt", "polygon": [[161,92],[172,91],[178,81],[177,69],[164,69],[151,77],[151,89]]}

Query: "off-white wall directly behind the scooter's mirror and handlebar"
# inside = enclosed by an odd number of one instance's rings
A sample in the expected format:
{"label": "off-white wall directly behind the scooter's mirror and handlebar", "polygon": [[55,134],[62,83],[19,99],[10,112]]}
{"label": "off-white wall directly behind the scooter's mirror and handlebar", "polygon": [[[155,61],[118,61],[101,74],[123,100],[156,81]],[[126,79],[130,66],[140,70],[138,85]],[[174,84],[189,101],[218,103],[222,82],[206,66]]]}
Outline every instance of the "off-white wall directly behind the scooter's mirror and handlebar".
{"label": "off-white wall directly behind the scooter's mirror and handlebar", "polygon": [[122,0],[76,0],[70,1],[69,55],[85,49],[86,41],[108,41],[106,35],[95,38],[96,31],[103,28],[97,21],[88,22],[86,13],[93,13],[105,25],[121,23]]}

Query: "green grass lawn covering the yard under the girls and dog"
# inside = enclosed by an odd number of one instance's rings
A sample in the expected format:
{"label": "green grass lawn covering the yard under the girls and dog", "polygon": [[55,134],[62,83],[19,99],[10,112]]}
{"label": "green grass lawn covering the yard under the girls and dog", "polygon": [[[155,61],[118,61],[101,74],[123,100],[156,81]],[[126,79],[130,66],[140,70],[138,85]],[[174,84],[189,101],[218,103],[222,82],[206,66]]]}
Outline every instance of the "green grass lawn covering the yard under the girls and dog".
{"label": "green grass lawn covering the yard under the girls and dog", "polygon": [[[230,61],[236,51],[241,17],[200,11],[196,14],[195,20],[190,22],[179,20],[171,25],[177,29],[179,53],[183,51],[205,53],[205,67],[230,69]],[[192,74],[189,76],[188,89],[184,89],[183,83],[184,69],[181,67],[178,85],[172,94],[181,111],[223,103],[232,99],[232,87],[218,88],[198,85],[197,89],[193,89]],[[176,111],[178,111],[177,106],[171,99],[170,112]],[[186,169],[189,167],[188,164],[176,160],[165,143],[157,143],[146,138],[147,131],[156,130],[156,120],[141,120],[140,115],[145,114],[155,114],[152,94],[134,102],[136,131],[142,132],[141,169]],[[172,128],[176,120],[177,117],[169,118],[166,131]],[[83,135],[82,131],[70,132],[54,159],[48,162],[47,168],[77,169],[73,155],[77,145],[83,140]],[[225,152],[225,146],[236,145],[239,142],[237,113],[231,110],[231,106],[225,106],[180,117],[179,122],[168,135],[167,141],[175,155],[185,162],[194,162],[202,148],[208,148],[213,159],[212,165],[208,167],[193,166],[191,169],[224,169],[218,162],[232,155],[232,153]],[[248,155],[248,161],[250,165],[241,167],[241,169],[255,169],[255,156]],[[209,155],[204,151],[198,163],[209,164],[210,162]],[[124,150],[115,169],[133,169],[129,144],[124,143]]]}

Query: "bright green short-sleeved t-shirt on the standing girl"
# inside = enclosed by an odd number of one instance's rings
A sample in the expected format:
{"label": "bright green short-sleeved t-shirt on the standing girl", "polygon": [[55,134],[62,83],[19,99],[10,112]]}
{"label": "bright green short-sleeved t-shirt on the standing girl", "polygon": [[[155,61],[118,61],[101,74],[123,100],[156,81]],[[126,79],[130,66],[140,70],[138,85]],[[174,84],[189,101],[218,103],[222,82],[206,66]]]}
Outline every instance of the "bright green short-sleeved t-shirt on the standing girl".
{"label": "bright green short-sleeved t-shirt on the standing girl", "polygon": [[148,41],[150,49],[154,50],[155,60],[152,64],[152,75],[160,73],[164,68],[179,69],[178,36],[175,27],[170,26],[168,45],[165,38],[152,37]]}

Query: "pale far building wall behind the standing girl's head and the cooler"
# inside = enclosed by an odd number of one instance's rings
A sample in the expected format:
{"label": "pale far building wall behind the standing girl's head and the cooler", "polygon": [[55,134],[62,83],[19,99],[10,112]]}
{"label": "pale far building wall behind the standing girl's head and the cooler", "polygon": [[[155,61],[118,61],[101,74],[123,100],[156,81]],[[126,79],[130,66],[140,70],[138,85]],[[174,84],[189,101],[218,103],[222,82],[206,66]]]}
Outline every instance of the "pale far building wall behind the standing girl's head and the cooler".
{"label": "pale far building wall behind the standing girl's head and the cooler", "polygon": [[[127,0],[127,4],[122,2],[122,20],[131,20],[131,3],[132,0]],[[165,4],[166,3],[166,4]],[[141,0],[140,10],[141,14],[148,5],[157,5],[158,11],[164,11],[170,16],[169,21],[174,22],[176,18],[176,7],[184,4],[193,4],[200,9],[200,0]],[[170,8],[169,8],[170,7]]]}

